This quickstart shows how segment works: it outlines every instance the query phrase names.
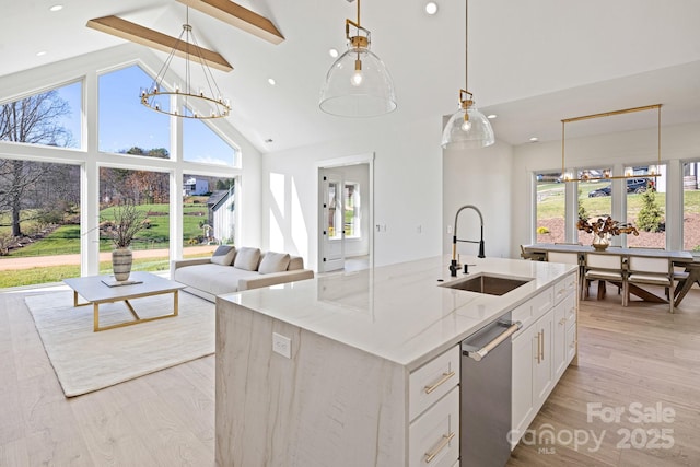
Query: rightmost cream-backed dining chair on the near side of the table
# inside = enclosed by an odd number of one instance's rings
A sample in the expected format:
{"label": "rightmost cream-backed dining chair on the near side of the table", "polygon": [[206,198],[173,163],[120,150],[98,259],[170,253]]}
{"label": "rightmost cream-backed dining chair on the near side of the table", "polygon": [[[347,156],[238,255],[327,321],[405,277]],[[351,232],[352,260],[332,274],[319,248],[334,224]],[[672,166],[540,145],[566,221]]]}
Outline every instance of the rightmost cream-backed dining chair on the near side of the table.
{"label": "rightmost cream-backed dining chair on the near side of the table", "polygon": [[668,313],[674,313],[674,264],[668,258],[650,258],[648,256],[628,257],[627,281],[625,282],[625,300],[622,305],[629,304],[630,288],[635,287],[634,293],[644,300],[664,301],[654,293],[638,287],[638,284],[663,287],[668,302]]}

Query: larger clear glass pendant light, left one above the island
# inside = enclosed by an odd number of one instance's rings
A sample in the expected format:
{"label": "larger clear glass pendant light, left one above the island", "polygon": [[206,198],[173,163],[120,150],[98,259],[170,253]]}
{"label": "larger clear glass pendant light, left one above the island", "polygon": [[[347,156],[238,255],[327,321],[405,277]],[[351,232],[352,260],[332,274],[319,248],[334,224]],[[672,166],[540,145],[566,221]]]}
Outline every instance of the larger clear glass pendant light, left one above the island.
{"label": "larger clear glass pendant light, left one above the island", "polygon": [[[396,109],[394,82],[384,62],[370,51],[371,33],[358,21],[346,20],[348,50],[326,73],[320,109],[340,117],[375,117]],[[350,36],[350,28],[354,35]]]}

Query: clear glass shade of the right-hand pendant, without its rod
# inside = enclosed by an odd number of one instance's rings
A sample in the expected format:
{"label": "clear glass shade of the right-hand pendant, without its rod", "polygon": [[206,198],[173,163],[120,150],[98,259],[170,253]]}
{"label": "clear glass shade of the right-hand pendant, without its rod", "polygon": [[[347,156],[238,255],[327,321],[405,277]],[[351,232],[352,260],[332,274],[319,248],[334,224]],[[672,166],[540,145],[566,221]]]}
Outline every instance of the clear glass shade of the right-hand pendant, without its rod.
{"label": "clear glass shade of the right-hand pendant, without its rod", "polygon": [[[465,119],[465,113],[467,119]],[[478,149],[495,142],[491,122],[479,112],[474,102],[463,103],[450,117],[442,132],[444,149]]]}

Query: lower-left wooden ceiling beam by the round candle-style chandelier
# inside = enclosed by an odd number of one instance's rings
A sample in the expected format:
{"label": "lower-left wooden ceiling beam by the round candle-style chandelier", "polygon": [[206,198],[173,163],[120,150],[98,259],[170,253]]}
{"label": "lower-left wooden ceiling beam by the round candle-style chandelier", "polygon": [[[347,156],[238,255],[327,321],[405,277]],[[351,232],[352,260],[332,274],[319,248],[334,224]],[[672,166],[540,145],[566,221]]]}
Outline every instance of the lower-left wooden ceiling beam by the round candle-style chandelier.
{"label": "lower-left wooden ceiling beam by the round candle-style chandelier", "polygon": [[[122,20],[118,16],[103,16],[95,17],[88,21],[88,27],[101,31],[103,33],[112,34],[113,36],[120,37],[122,39],[130,40],[132,43],[141,44],[147,47],[154,48],[156,50],[170,54],[177,47],[175,55],[182,58],[187,58],[185,54],[185,46],[188,44],[182,40],[177,43],[177,37],[172,37],[158,31],[150,30],[136,23]],[[221,71],[231,71],[233,67],[226,61],[220,54],[198,47],[194,44],[189,44],[190,47],[190,60],[192,57],[201,56],[207,66],[215,68]],[[197,50],[198,49],[198,50]]]}

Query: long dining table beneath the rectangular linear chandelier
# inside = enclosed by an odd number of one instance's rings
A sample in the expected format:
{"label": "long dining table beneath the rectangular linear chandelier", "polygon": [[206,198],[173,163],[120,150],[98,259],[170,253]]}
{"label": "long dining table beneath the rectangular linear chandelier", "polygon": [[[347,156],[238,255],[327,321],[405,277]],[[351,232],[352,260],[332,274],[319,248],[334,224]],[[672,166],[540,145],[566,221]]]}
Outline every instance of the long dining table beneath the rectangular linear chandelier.
{"label": "long dining table beneath the rectangular linear chandelier", "polygon": [[[643,256],[649,258],[667,258],[673,261],[676,267],[684,267],[685,275],[679,279],[678,284],[674,289],[674,306],[678,306],[693,283],[700,285],[700,262],[695,262],[695,257],[690,252],[661,249],[661,248],[623,248],[619,246],[609,246],[606,249],[596,249],[592,245],[580,245],[570,243],[535,243],[532,245],[523,245],[523,250],[534,257],[540,257],[542,260],[547,257],[547,252],[578,253],[579,265],[584,266],[585,253],[608,253],[611,255],[621,255],[625,260],[630,256]],[[581,271],[583,273],[583,271]],[[653,293],[644,289],[630,284],[630,292],[642,300],[651,302],[665,302]]]}

